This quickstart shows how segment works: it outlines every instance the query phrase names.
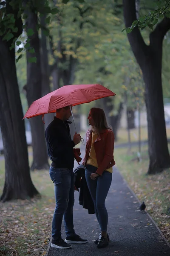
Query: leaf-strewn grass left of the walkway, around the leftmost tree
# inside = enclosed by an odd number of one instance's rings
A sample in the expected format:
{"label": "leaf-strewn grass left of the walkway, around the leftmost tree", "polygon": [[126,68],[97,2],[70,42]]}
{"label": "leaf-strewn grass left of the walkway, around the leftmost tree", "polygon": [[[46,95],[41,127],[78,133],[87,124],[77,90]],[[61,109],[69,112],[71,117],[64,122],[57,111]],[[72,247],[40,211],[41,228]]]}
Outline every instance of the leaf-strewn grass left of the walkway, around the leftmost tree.
{"label": "leaf-strewn grass left of the walkway, around the leftmost tree", "polygon": [[[4,161],[1,160],[0,195],[4,178]],[[51,238],[54,186],[49,171],[31,172],[31,178],[41,198],[0,203],[0,255],[45,255]]]}

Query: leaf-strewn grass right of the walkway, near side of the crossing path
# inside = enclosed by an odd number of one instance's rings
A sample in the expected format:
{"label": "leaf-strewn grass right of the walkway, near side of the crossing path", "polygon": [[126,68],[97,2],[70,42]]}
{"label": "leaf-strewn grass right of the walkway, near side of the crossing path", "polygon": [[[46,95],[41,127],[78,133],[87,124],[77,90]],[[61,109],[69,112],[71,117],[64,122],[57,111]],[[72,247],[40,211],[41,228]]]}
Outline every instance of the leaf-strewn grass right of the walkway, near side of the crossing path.
{"label": "leaf-strewn grass right of the walkway, near side of the crossing path", "polygon": [[127,148],[115,148],[116,167],[139,200],[145,202],[147,212],[170,242],[170,215],[166,215],[167,206],[170,206],[170,169],[146,175],[149,165],[147,146],[142,147],[142,162],[136,160],[136,147],[132,148],[131,154],[127,152]]}

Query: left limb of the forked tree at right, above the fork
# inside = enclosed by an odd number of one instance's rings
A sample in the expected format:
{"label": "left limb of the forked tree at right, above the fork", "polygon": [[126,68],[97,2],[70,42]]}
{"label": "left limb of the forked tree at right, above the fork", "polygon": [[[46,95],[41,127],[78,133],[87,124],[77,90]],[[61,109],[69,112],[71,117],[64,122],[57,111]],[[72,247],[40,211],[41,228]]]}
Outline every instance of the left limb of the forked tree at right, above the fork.
{"label": "left limb of the forked tree at right, above the fork", "polygon": [[[125,26],[130,27],[136,18],[135,0],[123,0],[123,13]],[[132,32],[127,34],[132,51],[137,59],[142,58],[147,50],[147,45],[144,43],[140,30],[136,27]]]}

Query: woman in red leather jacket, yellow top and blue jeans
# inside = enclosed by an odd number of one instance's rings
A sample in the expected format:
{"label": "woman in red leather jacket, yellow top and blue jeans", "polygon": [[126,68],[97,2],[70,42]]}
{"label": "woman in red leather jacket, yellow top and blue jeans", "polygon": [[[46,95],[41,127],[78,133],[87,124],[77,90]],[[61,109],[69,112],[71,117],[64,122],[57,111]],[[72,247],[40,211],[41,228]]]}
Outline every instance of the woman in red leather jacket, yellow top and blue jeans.
{"label": "woman in red leather jacket, yellow top and blue jeans", "polygon": [[85,165],[88,189],[94,201],[96,218],[101,229],[95,244],[98,248],[103,248],[108,245],[109,241],[108,212],[105,207],[105,199],[111,186],[112,166],[115,164],[113,157],[114,134],[111,126],[107,124],[102,108],[91,108],[88,122],[91,128],[86,134],[83,164]]}

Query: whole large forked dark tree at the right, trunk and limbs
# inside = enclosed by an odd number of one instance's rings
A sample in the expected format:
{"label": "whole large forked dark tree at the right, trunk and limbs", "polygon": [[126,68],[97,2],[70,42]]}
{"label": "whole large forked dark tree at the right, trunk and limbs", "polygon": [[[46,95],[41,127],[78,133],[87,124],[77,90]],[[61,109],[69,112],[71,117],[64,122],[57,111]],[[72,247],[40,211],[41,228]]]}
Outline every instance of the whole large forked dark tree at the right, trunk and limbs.
{"label": "whole large forked dark tree at the right, trunk and limbs", "polygon": [[[136,20],[135,0],[123,0],[123,5],[125,25],[128,27]],[[144,43],[138,28],[127,34],[145,82],[150,158],[148,174],[170,167],[161,84],[162,41],[169,29],[170,19],[164,18],[150,34],[149,46]]]}

